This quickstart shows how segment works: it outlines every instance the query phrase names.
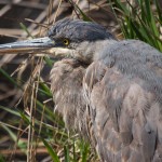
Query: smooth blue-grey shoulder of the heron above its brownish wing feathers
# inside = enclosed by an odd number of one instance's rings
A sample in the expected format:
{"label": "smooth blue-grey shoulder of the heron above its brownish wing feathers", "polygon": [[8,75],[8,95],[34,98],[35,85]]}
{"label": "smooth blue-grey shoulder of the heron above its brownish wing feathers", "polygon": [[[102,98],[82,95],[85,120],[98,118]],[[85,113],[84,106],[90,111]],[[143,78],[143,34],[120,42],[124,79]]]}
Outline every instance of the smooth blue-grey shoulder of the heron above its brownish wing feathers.
{"label": "smooth blue-grey shoulder of the heron above its brownish wing feathers", "polygon": [[105,80],[107,85],[111,78],[114,83],[116,75],[121,81],[140,81],[143,89],[151,92],[158,89],[159,95],[162,93],[162,53],[143,41],[117,41],[104,48],[99,57],[86,69],[86,80],[91,78],[91,73],[93,78],[98,78],[102,69],[105,72],[100,81]]}

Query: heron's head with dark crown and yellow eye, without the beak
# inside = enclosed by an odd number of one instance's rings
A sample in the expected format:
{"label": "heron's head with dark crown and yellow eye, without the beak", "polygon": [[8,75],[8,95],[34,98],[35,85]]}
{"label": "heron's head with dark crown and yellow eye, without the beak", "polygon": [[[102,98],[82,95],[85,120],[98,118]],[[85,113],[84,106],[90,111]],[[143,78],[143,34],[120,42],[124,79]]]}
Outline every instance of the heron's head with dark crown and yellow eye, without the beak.
{"label": "heron's head with dark crown and yellow eye, without the beak", "polygon": [[69,50],[69,56],[90,63],[100,42],[116,38],[103,26],[81,19],[64,18],[55,23],[48,36],[56,48]]}

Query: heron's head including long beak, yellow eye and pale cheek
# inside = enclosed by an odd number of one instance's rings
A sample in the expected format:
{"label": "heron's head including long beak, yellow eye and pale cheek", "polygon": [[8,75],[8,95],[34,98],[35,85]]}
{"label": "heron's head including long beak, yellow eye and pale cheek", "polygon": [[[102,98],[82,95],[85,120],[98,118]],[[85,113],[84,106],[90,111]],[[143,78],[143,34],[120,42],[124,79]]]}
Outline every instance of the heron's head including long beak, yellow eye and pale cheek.
{"label": "heron's head including long beak, yellow eye and pale cheek", "polygon": [[[65,18],[55,23],[48,37],[0,45],[0,53],[42,51],[50,48],[68,49],[68,56],[90,63],[96,42],[114,39],[104,27],[80,19]],[[67,56],[67,53],[58,53]]]}

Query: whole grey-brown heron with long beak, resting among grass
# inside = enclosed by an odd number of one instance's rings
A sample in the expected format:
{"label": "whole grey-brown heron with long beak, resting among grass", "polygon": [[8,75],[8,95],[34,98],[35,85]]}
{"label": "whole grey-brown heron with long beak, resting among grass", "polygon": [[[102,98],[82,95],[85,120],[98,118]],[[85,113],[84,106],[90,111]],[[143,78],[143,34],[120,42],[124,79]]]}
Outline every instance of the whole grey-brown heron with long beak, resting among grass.
{"label": "whole grey-brown heron with long beak, resting among grass", "polygon": [[162,53],[79,19],[55,23],[48,36],[0,53],[68,49],[51,71],[66,126],[90,139],[103,162],[162,162]]}

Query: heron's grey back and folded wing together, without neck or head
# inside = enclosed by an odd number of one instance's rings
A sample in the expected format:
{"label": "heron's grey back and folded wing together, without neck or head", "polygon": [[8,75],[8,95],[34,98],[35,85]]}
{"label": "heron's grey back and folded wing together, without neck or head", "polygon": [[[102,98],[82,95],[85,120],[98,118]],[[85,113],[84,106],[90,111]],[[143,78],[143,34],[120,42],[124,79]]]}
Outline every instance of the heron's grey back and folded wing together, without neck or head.
{"label": "heron's grey back and folded wing together, without neck or head", "polygon": [[86,70],[84,90],[102,160],[162,161],[161,53],[125,40],[98,55]]}

